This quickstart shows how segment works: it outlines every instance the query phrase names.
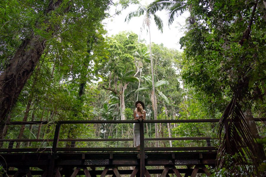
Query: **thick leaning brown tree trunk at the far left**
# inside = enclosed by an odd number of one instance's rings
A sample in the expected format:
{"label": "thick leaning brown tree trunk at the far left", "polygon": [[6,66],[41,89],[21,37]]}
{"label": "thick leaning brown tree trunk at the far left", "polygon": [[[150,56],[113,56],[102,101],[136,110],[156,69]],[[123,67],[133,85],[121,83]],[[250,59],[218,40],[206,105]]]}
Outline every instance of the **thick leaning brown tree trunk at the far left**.
{"label": "thick leaning brown tree trunk at the far left", "polygon": [[[63,0],[50,0],[49,6],[46,9],[46,16],[55,9],[60,8],[62,6],[62,1]],[[62,14],[68,12],[69,9],[70,6],[62,9]],[[36,24],[39,23],[40,22],[36,22]],[[58,25],[50,22],[48,18],[44,23],[46,25],[37,26],[37,28],[45,30],[46,32],[55,33],[57,31]],[[46,26],[46,29],[43,29],[43,26]],[[28,36],[27,39],[22,42],[22,45],[20,45],[13,58],[10,60],[9,65],[7,65],[5,71],[0,75],[0,129],[3,128],[6,115],[11,110],[11,107],[14,105],[25,83],[33,73],[45,49],[46,39],[39,35],[35,35],[33,32],[31,34],[32,35]]]}

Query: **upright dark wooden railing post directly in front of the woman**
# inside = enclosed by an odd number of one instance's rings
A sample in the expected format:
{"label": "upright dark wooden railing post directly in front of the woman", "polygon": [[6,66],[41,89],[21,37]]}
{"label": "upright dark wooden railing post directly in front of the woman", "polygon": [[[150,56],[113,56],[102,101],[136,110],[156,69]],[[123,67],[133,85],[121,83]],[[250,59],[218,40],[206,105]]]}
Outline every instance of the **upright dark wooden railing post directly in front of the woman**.
{"label": "upright dark wooden railing post directly in front of the woman", "polygon": [[140,177],[145,177],[144,123],[140,121]]}

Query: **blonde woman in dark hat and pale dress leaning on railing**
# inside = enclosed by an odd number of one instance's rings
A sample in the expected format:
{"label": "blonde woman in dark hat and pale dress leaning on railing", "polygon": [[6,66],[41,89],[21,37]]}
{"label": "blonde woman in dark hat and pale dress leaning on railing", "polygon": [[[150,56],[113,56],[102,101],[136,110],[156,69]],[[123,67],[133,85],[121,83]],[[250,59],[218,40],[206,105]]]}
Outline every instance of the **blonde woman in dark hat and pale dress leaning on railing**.
{"label": "blonde woman in dark hat and pale dress leaning on railing", "polygon": [[[134,120],[142,120],[146,119],[146,111],[144,111],[144,103],[142,101],[137,101],[135,103],[136,109],[133,113]],[[135,147],[140,147],[140,124],[139,123],[134,123],[134,146]]]}

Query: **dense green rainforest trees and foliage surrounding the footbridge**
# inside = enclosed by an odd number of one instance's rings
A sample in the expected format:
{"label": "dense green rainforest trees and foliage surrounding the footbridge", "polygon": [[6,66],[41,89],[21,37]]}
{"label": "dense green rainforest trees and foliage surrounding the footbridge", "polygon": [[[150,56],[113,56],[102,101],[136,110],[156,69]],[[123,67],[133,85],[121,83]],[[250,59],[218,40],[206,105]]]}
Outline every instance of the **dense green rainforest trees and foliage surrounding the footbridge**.
{"label": "dense green rainforest trees and foliage surrounding the footbridge", "polygon": [[[126,8],[138,2],[119,3]],[[163,44],[147,45],[133,32],[106,37],[102,20],[109,17],[109,6],[119,3],[0,2],[0,137],[48,139],[58,120],[132,120],[134,103],[142,100],[147,119],[221,118],[219,124],[146,124],[146,137],[219,136],[219,141],[211,142],[221,145],[216,176],[262,176],[266,159],[260,138],[266,135],[265,123],[258,122],[257,131],[256,124],[249,122],[266,116],[265,3],[156,0],[125,17],[129,22],[144,15],[149,31],[152,20],[162,30],[156,11],[169,12],[169,25],[189,11],[180,39],[183,52]],[[5,126],[8,121],[39,120],[49,124],[25,129]],[[225,132],[224,125],[229,127]],[[132,129],[127,124],[64,125],[60,137],[133,137]],[[245,144],[249,146],[239,148]],[[205,145],[200,140],[148,144]],[[48,142],[16,144],[16,148],[50,146]],[[76,144],[88,146],[133,144]]]}

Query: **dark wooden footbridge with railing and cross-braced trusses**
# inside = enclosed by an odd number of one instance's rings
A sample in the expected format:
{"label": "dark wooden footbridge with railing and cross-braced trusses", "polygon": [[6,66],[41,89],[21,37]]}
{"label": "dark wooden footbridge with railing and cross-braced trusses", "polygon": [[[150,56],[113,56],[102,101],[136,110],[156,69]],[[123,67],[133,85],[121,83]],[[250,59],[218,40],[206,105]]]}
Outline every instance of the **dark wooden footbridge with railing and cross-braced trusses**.
{"label": "dark wooden footbridge with railing and cross-braced trusses", "polygon": [[[265,121],[265,118],[255,119],[255,121]],[[51,124],[47,121],[33,122],[9,122],[11,126],[42,126],[49,125],[49,130],[54,130],[52,138],[47,139],[0,139],[0,163],[8,176],[42,176],[42,177],[74,177],[85,175],[86,177],[104,177],[112,175],[120,177],[127,175],[130,177],[149,177],[152,174],[165,176],[192,176],[197,173],[211,173],[207,167],[215,167],[217,147],[215,147],[216,137],[145,137],[145,124],[183,124],[183,123],[215,123],[219,119],[197,119],[197,120],[136,120],[120,121],[58,121]],[[83,124],[89,128],[93,125],[103,126],[105,124],[140,124],[140,147],[129,147],[128,145],[112,146],[101,144],[101,142],[132,142],[133,138],[67,138],[65,132],[60,131],[62,126],[74,126]],[[54,126],[54,127],[53,127]],[[103,131],[103,130],[102,130]],[[103,132],[102,132],[103,133]],[[40,134],[40,130],[38,130]],[[81,133],[82,134],[82,133]],[[6,136],[8,138],[8,136]],[[200,146],[183,145],[183,147],[164,144],[164,147],[152,147],[147,142],[155,141],[201,141]],[[203,141],[203,142],[202,142]],[[33,147],[31,143],[36,142],[47,145]],[[67,144],[65,145],[64,142]],[[77,145],[77,143],[81,143]],[[205,143],[204,143],[205,142]],[[20,143],[27,144],[27,147],[20,146]],[[62,145],[60,143],[63,143]],[[83,144],[82,144],[83,143]],[[85,144],[84,144],[85,143]],[[86,143],[90,143],[87,145]],[[93,146],[97,144],[98,147]],[[14,145],[17,145],[15,148]],[[203,146],[204,145],[204,146]],[[63,146],[63,147],[62,147]],[[84,147],[86,146],[86,147]],[[149,147],[150,146],[150,147]],[[1,175],[0,175],[1,176]]]}

